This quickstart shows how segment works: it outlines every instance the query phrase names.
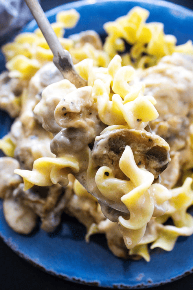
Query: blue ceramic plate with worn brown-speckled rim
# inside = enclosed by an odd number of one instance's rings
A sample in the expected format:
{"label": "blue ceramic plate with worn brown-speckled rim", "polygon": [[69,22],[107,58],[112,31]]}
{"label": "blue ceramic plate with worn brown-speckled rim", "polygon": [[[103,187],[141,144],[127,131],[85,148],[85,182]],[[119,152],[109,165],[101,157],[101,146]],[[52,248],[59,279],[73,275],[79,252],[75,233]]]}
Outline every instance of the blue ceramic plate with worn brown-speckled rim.
{"label": "blue ceramic plate with worn brown-speckled rim", "polygon": [[[67,30],[66,36],[82,30],[94,29],[104,33],[103,23],[126,14],[133,6],[140,5],[150,11],[148,21],[161,21],[165,33],[173,34],[178,44],[193,40],[193,12],[165,1],[78,1],[47,12],[50,22],[61,10],[76,8],[81,18],[76,28]],[[32,21],[25,31],[37,28]],[[3,136],[12,120],[1,113],[0,134]],[[95,235],[91,242],[84,242],[85,228],[75,219],[63,216],[63,222],[54,233],[36,229],[31,235],[19,235],[6,224],[0,204],[0,235],[20,256],[45,271],[67,280],[111,288],[151,287],[178,279],[193,271],[193,236],[178,239],[174,250],[151,251],[151,261],[122,260],[108,249],[102,235]]]}

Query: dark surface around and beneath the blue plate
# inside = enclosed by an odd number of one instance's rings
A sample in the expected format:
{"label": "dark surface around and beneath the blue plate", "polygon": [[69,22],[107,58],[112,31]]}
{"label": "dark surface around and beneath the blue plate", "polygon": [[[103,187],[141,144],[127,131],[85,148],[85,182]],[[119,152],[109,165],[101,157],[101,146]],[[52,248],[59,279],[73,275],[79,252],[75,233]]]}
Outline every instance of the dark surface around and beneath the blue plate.
{"label": "dark surface around and beneath the blue plate", "polygon": [[[159,1],[159,0],[157,0]],[[68,3],[66,0],[41,0],[44,11],[52,9],[58,5]],[[183,5],[193,10],[192,0],[171,0],[170,2]],[[192,23],[193,24],[193,23]],[[192,25],[193,28],[193,25]],[[192,265],[193,267],[193,265]],[[60,290],[60,289],[85,289],[103,290],[92,286],[72,283],[63,279],[44,273],[40,269],[26,262],[16,255],[0,238],[0,290]],[[193,274],[181,278],[175,282],[159,287],[150,288],[152,290],[182,290],[193,289]]]}

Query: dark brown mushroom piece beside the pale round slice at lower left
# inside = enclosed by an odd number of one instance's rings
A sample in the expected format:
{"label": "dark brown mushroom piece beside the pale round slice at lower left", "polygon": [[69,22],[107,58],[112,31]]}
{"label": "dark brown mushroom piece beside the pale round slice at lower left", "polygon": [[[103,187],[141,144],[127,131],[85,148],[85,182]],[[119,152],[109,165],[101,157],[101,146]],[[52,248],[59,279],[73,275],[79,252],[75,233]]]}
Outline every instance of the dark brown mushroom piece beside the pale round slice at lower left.
{"label": "dark brown mushroom piece beside the pale round slice at lower left", "polygon": [[65,189],[55,184],[50,187],[33,186],[32,189],[23,191],[23,184],[20,184],[13,192],[13,199],[17,200],[20,207],[28,208],[29,212],[32,211],[40,217],[42,229],[52,232],[60,224],[61,214],[72,195],[74,177],[69,179]]}

